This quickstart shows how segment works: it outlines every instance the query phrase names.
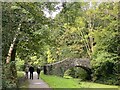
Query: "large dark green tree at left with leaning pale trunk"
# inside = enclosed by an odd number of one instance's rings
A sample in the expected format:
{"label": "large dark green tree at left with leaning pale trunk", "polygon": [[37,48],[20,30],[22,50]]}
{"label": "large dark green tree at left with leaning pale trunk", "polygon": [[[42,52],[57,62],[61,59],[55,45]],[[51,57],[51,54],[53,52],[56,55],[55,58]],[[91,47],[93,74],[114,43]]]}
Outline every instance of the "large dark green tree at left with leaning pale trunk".
{"label": "large dark green tree at left with leaning pale trunk", "polygon": [[[36,39],[34,39],[34,36],[36,36],[36,34],[34,34],[34,31],[37,31],[37,29],[44,23],[44,21],[42,22],[40,20],[45,18],[39,5],[41,5],[41,3],[3,3],[2,5],[2,50],[4,66],[3,73],[5,75],[5,82],[3,85],[4,88],[17,86],[15,56],[16,50],[17,52],[19,52],[20,50],[19,48],[21,46],[19,46],[19,44],[24,41],[24,43],[22,44],[23,46],[28,40],[31,40],[31,42],[33,43],[32,45],[36,45],[36,47],[39,48],[38,43],[35,41],[39,37],[36,37]],[[35,23],[36,25],[33,25],[33,23]],[[26,44],[28,44],[28,42]],[[27,48],[24,48],[24,51],[30,52],[31,46]],[[35,54],[35,52],[37,52],[38,50],[35,49],[33,51]],[[27,54],[29,54],[29,52]],[[23,51],[21,51],[20,54],[21,53],[23,53]]]}

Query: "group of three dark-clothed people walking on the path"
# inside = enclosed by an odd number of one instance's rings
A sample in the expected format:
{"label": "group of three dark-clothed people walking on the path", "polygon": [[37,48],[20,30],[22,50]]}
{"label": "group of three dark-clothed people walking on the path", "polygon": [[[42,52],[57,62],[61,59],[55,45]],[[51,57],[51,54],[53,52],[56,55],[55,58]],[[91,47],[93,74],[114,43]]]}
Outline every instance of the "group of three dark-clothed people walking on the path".
{"label": "group of three dark-clothed people walking on the path", "polygon": [[[40,75],[40,71],[42,70],[41,67],[37,67],[37,74],[38,74],[38,79]],[[26,78],[28,79],[28,72],[30,71],[30,79],[33,79],[33,72],[34,72],[34,67],[31,65],[30,67],[26,67],[25,72],[26,72]]]}

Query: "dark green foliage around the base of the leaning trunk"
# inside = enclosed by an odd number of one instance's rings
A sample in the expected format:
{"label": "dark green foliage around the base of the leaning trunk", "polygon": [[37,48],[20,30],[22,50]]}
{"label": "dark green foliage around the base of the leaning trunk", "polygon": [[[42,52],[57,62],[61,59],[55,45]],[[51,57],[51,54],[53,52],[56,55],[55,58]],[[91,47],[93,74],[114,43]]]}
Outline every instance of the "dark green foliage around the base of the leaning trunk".
{"label": "dark green foliage around the base of the leaning trunk", "polygon": [[[5,71],[4,71],[5,70]],[[11,62],[10,64],[5,64],[3,66],[3,89],[6,88],[17,88],[17,73],[15,62]]]}

